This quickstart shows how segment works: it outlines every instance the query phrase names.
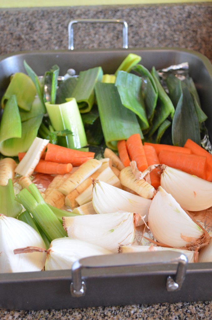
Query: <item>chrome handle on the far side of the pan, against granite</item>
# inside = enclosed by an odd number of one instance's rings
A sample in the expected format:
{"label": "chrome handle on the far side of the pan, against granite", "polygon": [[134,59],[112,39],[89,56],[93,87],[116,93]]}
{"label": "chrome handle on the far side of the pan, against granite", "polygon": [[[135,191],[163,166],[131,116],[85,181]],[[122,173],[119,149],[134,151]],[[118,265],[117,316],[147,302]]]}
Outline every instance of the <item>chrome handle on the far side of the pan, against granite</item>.
{"label": "chrome handle on the far side of the pan, against granite", "polygon": [[74,49],[74,31],[73,31],[73,25],[75,23],[122,23],[123,29],[122,29],[122,37],[123,37],[123,45],[122,47],[124,49],[128,48],[128,26],[125,20],[119,19],[77,19],[77,20],[71,20],[68,25],[68,35],[69,35],[69,45],[68,49],[73,50]]}

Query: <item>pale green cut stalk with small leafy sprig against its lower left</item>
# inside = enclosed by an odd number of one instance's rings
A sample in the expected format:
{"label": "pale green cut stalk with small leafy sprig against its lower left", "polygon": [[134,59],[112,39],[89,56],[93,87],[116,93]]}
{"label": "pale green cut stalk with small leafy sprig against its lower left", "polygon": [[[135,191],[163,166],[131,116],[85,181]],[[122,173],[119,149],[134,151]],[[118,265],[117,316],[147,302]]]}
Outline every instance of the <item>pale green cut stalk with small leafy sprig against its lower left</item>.
{"label": "pale green cut stalk with small leafy sprig against its lower left", "polygon": [[79,149],[87,145],[82,117],[75,98],[58,105],[46,102],[45,106],[54,130],[68,129],[72,133],[64,137],[68,148]]}

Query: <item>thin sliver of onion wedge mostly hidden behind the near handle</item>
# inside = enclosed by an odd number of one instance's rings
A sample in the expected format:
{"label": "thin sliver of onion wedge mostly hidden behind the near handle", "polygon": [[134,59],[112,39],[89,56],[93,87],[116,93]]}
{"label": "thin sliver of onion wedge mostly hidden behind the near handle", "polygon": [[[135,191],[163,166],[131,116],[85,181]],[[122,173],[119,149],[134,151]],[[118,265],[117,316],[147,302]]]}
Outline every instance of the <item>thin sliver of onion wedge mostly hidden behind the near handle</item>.
{"label": "thin sliver of onion wedge mostly hidden behind the near handle", "polygon": [[191,250],[184,250],[184,249],[176,249],[176,248],[167,248],[167,247],[160,247],[156,245],[122,245],[119,248],[120,253],[129,253],[129,252],[156,252],[156,251],[177,251],[183,253],[188,262],[196,262],[196,254],[195,251]]}

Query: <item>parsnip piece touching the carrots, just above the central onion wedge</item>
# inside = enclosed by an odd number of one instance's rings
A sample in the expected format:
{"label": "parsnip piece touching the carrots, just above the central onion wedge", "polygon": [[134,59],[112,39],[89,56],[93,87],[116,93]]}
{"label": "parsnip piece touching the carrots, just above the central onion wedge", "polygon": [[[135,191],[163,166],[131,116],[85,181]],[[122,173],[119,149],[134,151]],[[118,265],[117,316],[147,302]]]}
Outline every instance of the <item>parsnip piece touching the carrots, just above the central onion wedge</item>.
{"label": "parsnip piece touching the carrots, just above the central onion wedge", "polygon": [[144,179],[136,179],[130,166],[121,170],[119,180],[123,186],[130,188],[143,198],[150,199],[153,197],[155,188]]}

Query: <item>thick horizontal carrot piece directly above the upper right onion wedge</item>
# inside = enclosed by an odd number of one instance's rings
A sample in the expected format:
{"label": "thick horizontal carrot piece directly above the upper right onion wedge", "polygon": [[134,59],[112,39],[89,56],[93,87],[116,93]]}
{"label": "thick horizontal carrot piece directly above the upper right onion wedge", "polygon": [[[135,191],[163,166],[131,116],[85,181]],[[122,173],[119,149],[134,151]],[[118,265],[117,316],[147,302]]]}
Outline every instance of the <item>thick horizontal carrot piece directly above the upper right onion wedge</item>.
{"label": "thick horizontal carrot piece directly above the upper right onion wedge", "polygon": [[160,164],[166,164],[169,167],[194,174],[202,179],[206,178],[207,162],[204,156],[161,150],[158,158]]}

